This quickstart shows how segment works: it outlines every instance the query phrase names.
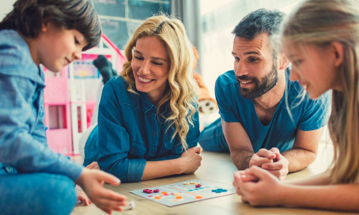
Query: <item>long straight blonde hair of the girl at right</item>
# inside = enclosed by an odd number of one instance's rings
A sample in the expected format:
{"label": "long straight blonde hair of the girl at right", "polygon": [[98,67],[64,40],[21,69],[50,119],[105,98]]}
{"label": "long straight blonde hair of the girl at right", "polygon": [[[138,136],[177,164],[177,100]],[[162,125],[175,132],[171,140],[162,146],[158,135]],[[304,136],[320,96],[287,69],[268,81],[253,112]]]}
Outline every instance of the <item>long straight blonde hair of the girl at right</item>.
{"label": "long straight blonde hair of the girl at right", "polygon": [[[328,122],[334,145],[331,183],[359,182],[359,2],[357,0],[307,0],[282,25],[282,40],[326,47],[340,42],[344,62],[340,67],[342,91],[332,92]],[[323,59],[325,60],[325,59]]]}

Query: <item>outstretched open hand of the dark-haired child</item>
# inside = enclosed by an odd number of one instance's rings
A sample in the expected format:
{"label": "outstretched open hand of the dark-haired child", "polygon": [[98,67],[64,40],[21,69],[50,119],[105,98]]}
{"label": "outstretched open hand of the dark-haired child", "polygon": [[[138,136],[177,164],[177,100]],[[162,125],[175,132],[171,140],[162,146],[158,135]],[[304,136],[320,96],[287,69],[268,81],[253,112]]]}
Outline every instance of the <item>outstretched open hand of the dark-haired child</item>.
{"label": "outstretched open hand of the dark-haired child", "polygon": [[76,181],[87,194],[89,199],[101,210],[111,214],[112,210],[122,211],[121,206],[126,205],[126,196],[103,187],[107,182],[110,185],[120,185],[120,180],[115,176],[97,169],[84,168]]}

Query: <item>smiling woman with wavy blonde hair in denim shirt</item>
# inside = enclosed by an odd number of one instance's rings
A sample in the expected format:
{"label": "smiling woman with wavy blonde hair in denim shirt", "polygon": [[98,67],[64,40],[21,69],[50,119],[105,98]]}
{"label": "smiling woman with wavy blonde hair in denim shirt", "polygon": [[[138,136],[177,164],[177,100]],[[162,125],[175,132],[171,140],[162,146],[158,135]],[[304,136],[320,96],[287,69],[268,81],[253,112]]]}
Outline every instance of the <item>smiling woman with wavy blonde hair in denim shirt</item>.
{"label": "smiling woman with wavy blonde hair in denim shirt", "polygon": [[84,165],[97,161],[122,182],[194,173],[202,158],[194,53],[183,24],[148,18],[125,54],[121,75],[104,86]]}

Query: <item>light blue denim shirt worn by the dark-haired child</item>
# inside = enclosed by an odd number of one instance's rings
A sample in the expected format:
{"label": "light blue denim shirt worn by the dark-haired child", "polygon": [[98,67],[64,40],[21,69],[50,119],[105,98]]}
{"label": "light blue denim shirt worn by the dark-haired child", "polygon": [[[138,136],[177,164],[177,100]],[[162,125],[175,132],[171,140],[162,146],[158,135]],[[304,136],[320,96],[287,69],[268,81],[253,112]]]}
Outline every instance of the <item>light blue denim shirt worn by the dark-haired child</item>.
{"label": "light blue denim shirt worn by the dark-haired child", "polygon": [[46,142],[44,78],[24,39],[14,30],[1,30],[0,174],[46,172],[76,181],[83,167],[52,152]]}

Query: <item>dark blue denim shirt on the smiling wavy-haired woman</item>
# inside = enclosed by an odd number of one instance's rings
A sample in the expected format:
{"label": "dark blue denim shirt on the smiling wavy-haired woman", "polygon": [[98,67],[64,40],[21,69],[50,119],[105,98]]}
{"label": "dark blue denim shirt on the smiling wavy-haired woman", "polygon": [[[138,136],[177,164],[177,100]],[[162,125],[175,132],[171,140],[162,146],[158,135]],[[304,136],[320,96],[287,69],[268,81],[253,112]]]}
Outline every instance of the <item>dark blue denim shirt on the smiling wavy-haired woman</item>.
{"label": "dark blue denim shirt on the smiling wavy-haired woman", "polygon": [[[144,92],[127,91],[121,76],[111,78],[103,88],[98,111],[98,159],[100,169],[122,182],[140,181],[146,161],[163,161],[181,156],[184,150],[178,135],[171,140],[173,126]],[[169,101],[164,104],[165,117],[170,114]],[[192,116],[194,126],[186,136],[188,148],[197,145],[200,131],[198,110]],[[168,129],[168,130],[167,130]],[[167,132],[166,132],[167,130]]]}

